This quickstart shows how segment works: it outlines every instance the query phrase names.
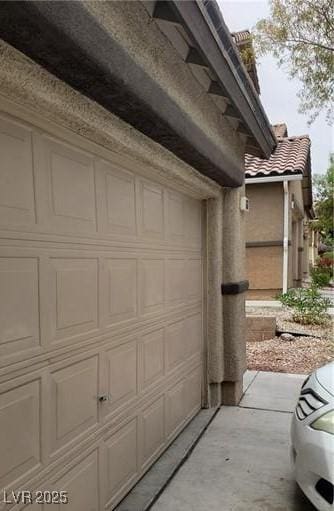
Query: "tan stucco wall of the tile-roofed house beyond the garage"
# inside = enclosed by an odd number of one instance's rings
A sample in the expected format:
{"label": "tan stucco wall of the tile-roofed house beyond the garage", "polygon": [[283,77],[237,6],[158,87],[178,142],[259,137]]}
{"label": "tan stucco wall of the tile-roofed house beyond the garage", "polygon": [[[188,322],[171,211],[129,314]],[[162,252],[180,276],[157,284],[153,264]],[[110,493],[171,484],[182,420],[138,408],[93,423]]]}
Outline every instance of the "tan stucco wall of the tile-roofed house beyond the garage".
{"label": "tan stucco wall of the tile-roofed house beyond the garage", "polygon": [[[308,276],[308,241],[304,227],[302,181],[289,184],[288,288],[300,286]],[[246,218],[248,299],[268,299],[282,290],[283,185],[248,185],[250,211]],[[292,206],[293,205],[293,206]],[[261,243],[267,246],[260,246]],[[272,243],[272,245],[271,245]],[[254,246],[254,245],[257,246]],[[253,246],[252,246],[253,245]]]}

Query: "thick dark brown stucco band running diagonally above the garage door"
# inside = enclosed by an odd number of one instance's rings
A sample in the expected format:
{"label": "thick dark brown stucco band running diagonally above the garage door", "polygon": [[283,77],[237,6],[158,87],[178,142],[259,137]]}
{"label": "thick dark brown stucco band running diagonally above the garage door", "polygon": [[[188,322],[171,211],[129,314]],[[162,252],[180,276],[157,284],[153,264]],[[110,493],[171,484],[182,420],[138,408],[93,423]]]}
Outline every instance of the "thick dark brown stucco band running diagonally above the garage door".
{"label": "thick dark brown stucco band running diagonally above the garage door", "polygon": [[241,166],[84,2],[0,2],[0,31],[7,43],[203,175],[222,186],[244,182]]}

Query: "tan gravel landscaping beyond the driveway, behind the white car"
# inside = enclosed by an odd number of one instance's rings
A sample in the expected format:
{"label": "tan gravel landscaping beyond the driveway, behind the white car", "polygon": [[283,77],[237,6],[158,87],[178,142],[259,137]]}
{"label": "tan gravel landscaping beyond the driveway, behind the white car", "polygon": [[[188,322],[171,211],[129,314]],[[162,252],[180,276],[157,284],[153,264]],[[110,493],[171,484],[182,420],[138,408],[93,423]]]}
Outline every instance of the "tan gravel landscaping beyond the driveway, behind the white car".
{"label": "tan gravel landscaping beyond the driveway, behind the white car", "polygon": [[294,340],[280,337],[261,342],[247,343],[247,368],[256,371],[308,374],[334,360],[333,320],[325,326],[300,325],[291,320],[284,309],[247,308],[247,315],[276,316],[280,331],[294,334]]}

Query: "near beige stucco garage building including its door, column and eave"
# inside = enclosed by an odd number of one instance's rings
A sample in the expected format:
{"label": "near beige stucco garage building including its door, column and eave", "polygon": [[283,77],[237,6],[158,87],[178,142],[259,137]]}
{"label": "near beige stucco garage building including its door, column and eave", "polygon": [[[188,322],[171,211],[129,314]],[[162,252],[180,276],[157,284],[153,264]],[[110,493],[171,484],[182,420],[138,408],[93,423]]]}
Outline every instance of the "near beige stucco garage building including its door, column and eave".
{"label": "near beige stucco garage building including its door, column and eave", "polygon": [[112,509],[241,397],[244,157],[276,140],[214,2],[1,2],[0,28],[0,489]]}

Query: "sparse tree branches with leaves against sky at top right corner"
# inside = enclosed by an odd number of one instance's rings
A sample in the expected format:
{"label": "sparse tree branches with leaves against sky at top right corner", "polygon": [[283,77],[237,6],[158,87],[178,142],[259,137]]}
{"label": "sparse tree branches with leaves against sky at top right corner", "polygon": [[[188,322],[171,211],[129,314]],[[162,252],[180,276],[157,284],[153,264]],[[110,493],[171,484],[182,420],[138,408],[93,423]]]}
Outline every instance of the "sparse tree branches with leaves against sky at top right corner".
{"label": "sparse tree branches with leaves against sky at top right corner", "polygon": [[302,82],[300,112],[312,122],[320,111],[333,121],[333,0],[270,0],[270,16],[253,34],[258,56],[271,53],[291,78]]}

